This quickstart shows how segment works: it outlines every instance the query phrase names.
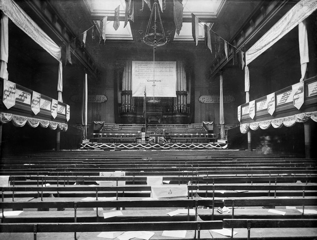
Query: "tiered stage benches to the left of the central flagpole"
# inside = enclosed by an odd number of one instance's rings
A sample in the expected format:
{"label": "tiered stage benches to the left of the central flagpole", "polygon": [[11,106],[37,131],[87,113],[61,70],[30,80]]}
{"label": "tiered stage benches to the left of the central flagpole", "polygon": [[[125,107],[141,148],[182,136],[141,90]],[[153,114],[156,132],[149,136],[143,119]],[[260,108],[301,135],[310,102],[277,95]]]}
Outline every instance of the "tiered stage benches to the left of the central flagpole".
{"label": "tiered stage benches to the left of the central flagpole", "polygon": [[99,133],[93,133],[91,142],[104,143],[136,143],[141,139],[142,124],[107,124]]}

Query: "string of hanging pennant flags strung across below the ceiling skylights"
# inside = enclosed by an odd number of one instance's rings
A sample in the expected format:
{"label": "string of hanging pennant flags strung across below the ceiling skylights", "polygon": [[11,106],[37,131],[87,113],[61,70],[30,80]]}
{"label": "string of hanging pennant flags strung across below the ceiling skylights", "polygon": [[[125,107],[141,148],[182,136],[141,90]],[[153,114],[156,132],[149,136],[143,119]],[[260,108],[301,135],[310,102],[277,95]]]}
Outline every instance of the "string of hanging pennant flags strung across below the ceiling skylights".
{"label": "string of hanging pennant flags strung across below the ceiling skylights", "polygon": [[[144,8],[144,3],[149,7],[151,10],[151,1],[150,0],[141,0],[142,1],[142,10]],[[174,22],[176,26],[176,33],[179,35],[180,30],[182,29],[183,25],[183,10],[184,5],[182,4],[182,1],[180,0],[173,0],[174,1]],[[159,6],[162,12],[166,9],[166,0],[158,0]],[[124,28],[127,25],[128,21],[134,22],[134,0],[125,0],[126,3],[126,9],[125,9],[125,19],[124,19]],[[186,7],[185,7],[186,8]],[[187,9],[187,8],[186,8]],[[189,9],[187,9],[190,11]],[[116,7],[114,10],[114,20],[113,20],[113,28],[117,31],[120,26],[120,5]],[[99,35],[99,45],[101,43],[105,44],[106,41],[106,25],[107,25],[107,18],[108,15],[110,15],[113,11],[108,13],[106,16],[104,16],[102,19],[98,20],[100,22],[100,35]],[[199,21],[201,21],[195,14],[191,13],[192,17],[192,36],[194,39],[194,42],[196,46],[198,45],[198,37],[199,37]],[[98,23],[97,23],[98,24]],[[75,37],[71,41],[63,44],[61,47],[66,45],[66,60],[65,60],[65,66],[67,65],[67,62],[72,64],[71,60],[71,47],[74,49],[75,47],[86,47],[86,39],[87,39],[87,31],[91,29],[91,38],[93,41],[96,40],[96,24],[85,30],[83,33],[81,33],[79,36]],[[224,52],[226,55],[226,58],[228,60],[228,45],[231,46],[231,53],[232,53],[232,61],[233,65],[240,64],[240,66],[245,66],[244,62],[244,51],[241,49],[238,49],[237,47],[230,44],[228,41],[224,40],[221,36],[219,36],[215,31],[213,31],[210,27],[208,27],[204,23],[204,40],[206,44],[206,49],[210,49],[210,52],[212,53],[212,44],[211,44],[211,32],[215,35],[215,54],[220,54],[222,41],[224,43]],[[238,53],[236,53],[236,50],[238,50]]]}

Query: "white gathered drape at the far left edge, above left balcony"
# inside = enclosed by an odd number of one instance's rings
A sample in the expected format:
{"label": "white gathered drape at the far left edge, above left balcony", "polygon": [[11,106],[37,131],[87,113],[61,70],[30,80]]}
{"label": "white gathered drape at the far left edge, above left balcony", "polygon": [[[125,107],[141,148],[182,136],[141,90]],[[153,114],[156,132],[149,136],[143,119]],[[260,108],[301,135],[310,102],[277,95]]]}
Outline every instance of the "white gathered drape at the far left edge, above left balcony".
{"label": "white gathered drape at the far left edge, above left balcony", "polygon": [[7,63],[9,58],[8,16],[2,13],[1,17],[1,47],[0,47],[0,78],[8,80]]}

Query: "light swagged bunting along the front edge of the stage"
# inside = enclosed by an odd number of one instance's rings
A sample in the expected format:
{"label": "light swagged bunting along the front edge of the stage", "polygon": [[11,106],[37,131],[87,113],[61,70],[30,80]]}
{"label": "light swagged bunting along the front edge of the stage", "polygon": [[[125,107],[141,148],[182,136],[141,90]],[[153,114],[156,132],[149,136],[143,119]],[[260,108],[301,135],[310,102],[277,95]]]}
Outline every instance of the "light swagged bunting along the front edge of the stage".
{"label": "light swagged bunting along the front edge of the stage", "polygon": [[225,143],[83,143],[80,149],[152,149],[152,150],[165,150],[165,149],[226,149],[228,144]]}

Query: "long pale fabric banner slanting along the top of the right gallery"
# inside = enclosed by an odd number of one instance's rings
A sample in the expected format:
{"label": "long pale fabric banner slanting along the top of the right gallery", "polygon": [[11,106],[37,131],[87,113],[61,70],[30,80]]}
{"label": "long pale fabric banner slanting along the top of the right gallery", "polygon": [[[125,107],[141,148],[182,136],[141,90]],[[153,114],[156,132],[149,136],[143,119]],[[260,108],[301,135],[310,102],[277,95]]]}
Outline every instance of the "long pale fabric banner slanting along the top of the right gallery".
{"label": "long pale fabric banner slanting along the top of the right gallery", "polygon": [[255,60],[260,54],[280,40],[298,23],[311,15],[317,9],[316,0],[301,0],[290,9],[275,25],[267,31],[252,47],[245,53],[245,65]]}

